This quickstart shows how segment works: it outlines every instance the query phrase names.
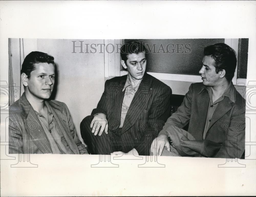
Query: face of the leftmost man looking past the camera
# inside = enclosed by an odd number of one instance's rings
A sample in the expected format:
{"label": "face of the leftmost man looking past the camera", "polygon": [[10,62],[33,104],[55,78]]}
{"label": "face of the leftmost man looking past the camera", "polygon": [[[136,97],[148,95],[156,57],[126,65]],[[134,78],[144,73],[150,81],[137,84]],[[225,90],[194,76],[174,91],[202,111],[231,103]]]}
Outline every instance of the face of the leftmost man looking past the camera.
{"label": "face of the leftmost man looking past the camera", "polygon": [[54,86],[55,68],[52,63],[34,64],[35,70],[30,73],[27,79],[27,93],[30,96],[39,99],[49,99]]}

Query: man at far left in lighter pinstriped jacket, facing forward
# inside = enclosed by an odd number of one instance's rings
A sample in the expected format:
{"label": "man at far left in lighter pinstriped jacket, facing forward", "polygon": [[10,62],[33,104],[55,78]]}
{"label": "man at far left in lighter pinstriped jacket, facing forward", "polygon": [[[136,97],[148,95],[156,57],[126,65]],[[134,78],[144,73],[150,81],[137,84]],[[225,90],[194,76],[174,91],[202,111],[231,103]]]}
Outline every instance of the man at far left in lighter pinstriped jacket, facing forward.
{"label": "man at far left in lighter pinstriped jacket, facing forward", "polygon": [[25,92],[9,108],[9,153],[87,154],[66,104],[49,100],[54,57],[33,51],[24,59],[21,73]]}

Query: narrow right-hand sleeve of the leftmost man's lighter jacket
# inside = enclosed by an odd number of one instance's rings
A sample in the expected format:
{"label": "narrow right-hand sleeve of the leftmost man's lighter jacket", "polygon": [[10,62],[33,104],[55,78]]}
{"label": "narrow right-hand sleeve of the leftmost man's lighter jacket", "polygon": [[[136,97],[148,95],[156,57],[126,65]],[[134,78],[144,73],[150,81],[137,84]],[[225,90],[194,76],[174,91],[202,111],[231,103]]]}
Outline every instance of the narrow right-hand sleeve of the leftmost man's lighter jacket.
{"label": "narrow right-hand sleeve of the leftmost man's lighter jacket", "polygon": [[67,112],[69,130],[70,130],[71,135],[77,145],[77,148],[78,148],[80,154],[88,154],[86,147],[82,144],[82,142],[79,140],[79,138],[77,136],[76,128],[74,127],[73,120],[72,120],[72,117],[70,116],[68,107],[65,103],[63,103],[63,104],[64,104],[65,110]]}

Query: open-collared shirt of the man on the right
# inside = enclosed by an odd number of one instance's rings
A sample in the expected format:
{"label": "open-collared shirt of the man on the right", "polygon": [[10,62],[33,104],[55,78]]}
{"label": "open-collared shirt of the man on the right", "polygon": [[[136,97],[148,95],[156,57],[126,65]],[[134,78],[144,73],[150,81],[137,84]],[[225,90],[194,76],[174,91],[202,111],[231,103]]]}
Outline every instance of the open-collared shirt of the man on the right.
{"label": "open-collared shirt of the man on the right", "polygon": [[210,102],[209,102],[209,106],[208,106],[208,113],[207,113],[207,118],[206,118],[206,123],[205,123],[205,129],[204,129],[204,134],[203,134],[203,139],[205,139],[206,137],[206,134],[207,134],[207,131],[209,129],[209,125],[211,123],[211,118],[212,118],[212,115],[215,111],[215,109],[217,108],[218,106],[218,103],[220,101],[222,101],[224,99],[225,96],[229,97],[229,99],[234,102],[234,95],[231,94],[232,92],[232,86],[231,86],[231,83],[229,83],[227,89],[224,91],[224,93],[222,94],[222,96],[220,98],[218,98],[214,103],[212,102],[212,89],[211,87],[207,87],[207,91],[208,91],[208,94],[209,94],[209,97],[210,97]]}

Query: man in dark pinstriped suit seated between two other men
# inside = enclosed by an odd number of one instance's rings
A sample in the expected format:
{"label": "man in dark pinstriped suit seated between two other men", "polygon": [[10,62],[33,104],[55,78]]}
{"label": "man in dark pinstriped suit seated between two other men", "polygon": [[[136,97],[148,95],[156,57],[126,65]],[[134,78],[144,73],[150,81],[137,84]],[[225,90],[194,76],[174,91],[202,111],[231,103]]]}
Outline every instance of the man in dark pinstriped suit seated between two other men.
{"label": "man in dark pinstriped suit seated between two other men", "polygon": [[171,89],[145,72],[144,45],[129,41],[120,50],[128,75],[105,82],[97,108],[80,124],[81,136],[91,154],[149,155],[170,115]]}

